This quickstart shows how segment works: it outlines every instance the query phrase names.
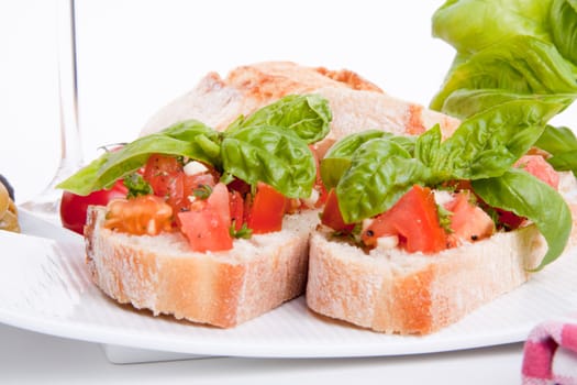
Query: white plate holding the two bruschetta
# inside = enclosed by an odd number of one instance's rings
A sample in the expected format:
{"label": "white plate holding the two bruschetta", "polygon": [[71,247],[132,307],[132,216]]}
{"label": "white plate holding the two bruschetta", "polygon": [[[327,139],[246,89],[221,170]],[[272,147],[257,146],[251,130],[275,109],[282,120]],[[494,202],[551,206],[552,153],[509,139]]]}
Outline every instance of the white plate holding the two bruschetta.
{"label": "white plate holding the two bruschetta", "polygon": [[0,322],[129,350],[258,358],[431,353],[523,341],[539,322],[577,310],[572,252],[522,287],[426,337],[326,321],[310,312],[302,297],[222,330],[116,305],[91,284],[79,237],[24,212],[21,223],[25,234],[0,231]]}

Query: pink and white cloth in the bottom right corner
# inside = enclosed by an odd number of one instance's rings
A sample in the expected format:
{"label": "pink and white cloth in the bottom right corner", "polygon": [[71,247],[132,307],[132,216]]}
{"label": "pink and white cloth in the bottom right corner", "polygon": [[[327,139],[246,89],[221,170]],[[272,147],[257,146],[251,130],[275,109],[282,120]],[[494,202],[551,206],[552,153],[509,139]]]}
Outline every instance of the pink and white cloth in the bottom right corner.
{"label": "pink and white cloth in the bottom right corner", "polygon": [[523,384],[577,385],[577,315],[539,324],[523,348]]}

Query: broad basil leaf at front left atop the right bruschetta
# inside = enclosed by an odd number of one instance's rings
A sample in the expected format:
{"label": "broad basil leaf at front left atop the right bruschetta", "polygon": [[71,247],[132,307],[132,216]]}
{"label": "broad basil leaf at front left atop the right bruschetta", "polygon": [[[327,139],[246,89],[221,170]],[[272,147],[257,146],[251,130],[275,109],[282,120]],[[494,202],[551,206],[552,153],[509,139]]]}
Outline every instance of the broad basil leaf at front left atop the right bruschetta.
{"label": "broad basil leaf at front left atop the right bruschetta", "polygon": [[389,209],[415,183],[426,179],[426,173],[395,141],[377,138],[362,144],[336,186],[344,221],[358,222]]}

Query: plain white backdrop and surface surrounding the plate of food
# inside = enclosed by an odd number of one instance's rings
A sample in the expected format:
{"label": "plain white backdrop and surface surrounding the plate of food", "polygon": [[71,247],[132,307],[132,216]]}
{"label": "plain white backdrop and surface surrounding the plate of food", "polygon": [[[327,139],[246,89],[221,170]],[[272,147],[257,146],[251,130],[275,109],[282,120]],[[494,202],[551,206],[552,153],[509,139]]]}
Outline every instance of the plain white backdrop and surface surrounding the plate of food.
{"label": "plain white backdrop and surface surrounding the plate of food", "polygon": [[[0,0],[0,174],[22,202],[59,156],[56,3]],[[426,106],[453,50],[431,36],[443,1],[78,0],[78,86],[85,161],[136,138],[162,106],[208,72],[293,61],[348,68]],[[569,111],[558,119],[572,124]],[[4,255],[0,255],[4,257]],[[0,326],[0,383],[517,383],[522,346],[369,360],[230,360],[114,366],[98,345]],[[32,365],[32,366],[30,366]],[[32,374],[36,367],[40,375]],[[46,377],[43,377],[46,375]],[[3,377],[2,377],[3,376]],[[323,377],[324,380],[321,380]],[[370,381],[373,380],[373,381]]]}

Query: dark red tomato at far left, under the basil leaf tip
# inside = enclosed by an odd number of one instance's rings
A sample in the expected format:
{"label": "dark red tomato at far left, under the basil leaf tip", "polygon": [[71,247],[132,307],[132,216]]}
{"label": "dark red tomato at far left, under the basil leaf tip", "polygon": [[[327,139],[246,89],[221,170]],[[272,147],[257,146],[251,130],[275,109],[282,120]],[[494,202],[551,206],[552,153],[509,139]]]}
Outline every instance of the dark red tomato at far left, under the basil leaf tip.
{"label": "dark red tomato at far left, under the basil leaf tip", "polygon": [[126,194],[127,189],[122,180],[118,180],[110,189],[93,191],[87,196],[64,191],[60,199],[60,221],[63,227],[84,234],[88,206],[106,206],[112,199],[125,198]]}

